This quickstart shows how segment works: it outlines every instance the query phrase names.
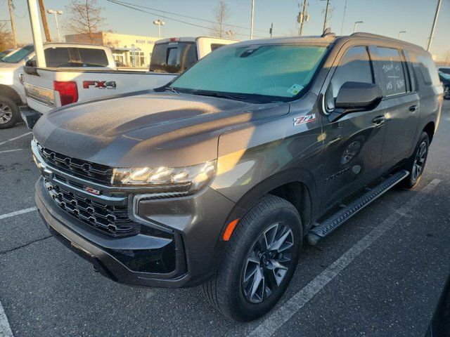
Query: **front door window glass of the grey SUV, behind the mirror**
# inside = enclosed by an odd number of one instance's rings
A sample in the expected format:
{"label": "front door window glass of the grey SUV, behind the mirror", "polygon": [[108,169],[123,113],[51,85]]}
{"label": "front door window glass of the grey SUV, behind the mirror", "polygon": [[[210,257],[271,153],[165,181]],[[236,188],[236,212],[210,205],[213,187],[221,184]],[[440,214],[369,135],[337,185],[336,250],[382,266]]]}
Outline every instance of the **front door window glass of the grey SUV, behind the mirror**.
{"label": "front door window glass of the grey SUV, behind the mirror", "polygon": [[345,82],[373,83],[371,60],[365,46],[349,48],[342,56],[326,92],[327,110],[333,110],[335,99]]}

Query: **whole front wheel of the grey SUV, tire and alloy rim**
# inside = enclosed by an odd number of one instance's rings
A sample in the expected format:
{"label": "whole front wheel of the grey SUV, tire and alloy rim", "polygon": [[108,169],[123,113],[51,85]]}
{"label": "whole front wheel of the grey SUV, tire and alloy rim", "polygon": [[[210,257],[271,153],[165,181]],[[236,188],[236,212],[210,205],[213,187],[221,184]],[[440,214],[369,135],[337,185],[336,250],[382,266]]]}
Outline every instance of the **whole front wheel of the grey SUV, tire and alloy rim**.
{"label": "whole front wheel of the grey SUV, tire and alloy rim", "polygon": [[269,312],[292,279],[302,248],[302,220],[290,202],[266,195],[240,220],[216,275],[203,284],[207,300],[240,322]]}

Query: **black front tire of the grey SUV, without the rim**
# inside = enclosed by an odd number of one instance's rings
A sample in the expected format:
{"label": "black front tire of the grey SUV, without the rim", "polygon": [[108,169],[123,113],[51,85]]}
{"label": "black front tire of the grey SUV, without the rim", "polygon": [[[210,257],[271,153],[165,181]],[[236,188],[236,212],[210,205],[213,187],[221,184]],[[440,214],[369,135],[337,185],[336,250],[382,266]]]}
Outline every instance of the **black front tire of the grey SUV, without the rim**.
{"label": "black front tire of the grey SUV, without the rim", "polygon": [[[274,223],[285,223],[291,230],[293,230],[294,247],[292,253],[292,260],[288,272],[286,273],[283,282],[281,282],[278,289],[269,296],[262,303],[249,303],[244,298],[242,289],[242,278],[245,268],[246,258],[253,244],[260,234]],[[232,312],[236,313],[235,318],[238,320],[250,320],[264,315],[268,312],[281,298],[285,289],[293,277],[295,267],[300,256],[302,248],[302,224],[300,216],[295,209],[283,208],[271,212],[263,212],[259,214],[257,219],[249,222],[245,218],[240,222],[240,225],[245,227],[245,237],[239,242],[238,248],[233,251],[231,257],[235,261],[235,266],[231,275],[229,275],[229,289],[226,293],[231,296],[229,298],[231,308],[235,308]]]}

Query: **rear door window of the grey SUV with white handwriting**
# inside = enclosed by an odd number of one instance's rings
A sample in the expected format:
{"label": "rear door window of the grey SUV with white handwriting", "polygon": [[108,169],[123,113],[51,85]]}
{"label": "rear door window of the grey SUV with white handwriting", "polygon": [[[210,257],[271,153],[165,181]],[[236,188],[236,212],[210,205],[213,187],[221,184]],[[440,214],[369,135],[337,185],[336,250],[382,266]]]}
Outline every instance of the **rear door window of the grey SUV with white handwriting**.
{"label": "rear door window of the grey SUV with white handwriting", "polygon": [[375,47],[375,70],[380,76],[383,95],[406,93],[406,77],[400,51],[394,48]]}

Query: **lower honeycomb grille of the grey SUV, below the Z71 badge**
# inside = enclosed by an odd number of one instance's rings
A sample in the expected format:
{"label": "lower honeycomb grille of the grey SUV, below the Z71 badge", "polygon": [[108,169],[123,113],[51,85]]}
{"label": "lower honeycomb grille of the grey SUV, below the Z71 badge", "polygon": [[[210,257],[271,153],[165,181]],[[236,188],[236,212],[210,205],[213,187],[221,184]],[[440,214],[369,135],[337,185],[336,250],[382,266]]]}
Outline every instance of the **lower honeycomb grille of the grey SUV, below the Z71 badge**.
{"label": "lower honeycomb grille of the grey SUV, below the Z71 badge", "polygon": [[140,231],[141,225],[129,218],[127,206],[101,204],[65,190],[46,179],[44,185],[60,209],[104,234],[127,237]]}

